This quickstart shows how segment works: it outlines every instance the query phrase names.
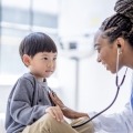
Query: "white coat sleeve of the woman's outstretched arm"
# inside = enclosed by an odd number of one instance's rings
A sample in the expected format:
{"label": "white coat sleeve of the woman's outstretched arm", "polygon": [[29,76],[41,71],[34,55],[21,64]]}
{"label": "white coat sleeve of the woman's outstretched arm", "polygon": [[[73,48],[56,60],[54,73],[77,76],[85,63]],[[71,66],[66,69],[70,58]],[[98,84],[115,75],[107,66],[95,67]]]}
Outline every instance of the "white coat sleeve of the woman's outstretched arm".
{"label": "white coat sleeve of the woman's outstretched arm", "polygon": [[[89,113],[92,117],[96,112]],[[99,115],[92,120],[95,132],[105,133],[132,133],[133,132],[133,112],[131,105],[127,103],[125,110],[122,113]]]}

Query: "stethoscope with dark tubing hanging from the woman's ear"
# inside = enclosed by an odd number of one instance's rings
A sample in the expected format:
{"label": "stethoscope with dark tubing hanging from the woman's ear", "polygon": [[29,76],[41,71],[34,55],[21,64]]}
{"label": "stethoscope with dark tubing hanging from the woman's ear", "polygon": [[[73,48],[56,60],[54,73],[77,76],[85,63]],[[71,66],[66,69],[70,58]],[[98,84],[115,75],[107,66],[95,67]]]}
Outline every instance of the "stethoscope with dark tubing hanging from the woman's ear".
{"label": "stethoscope with dark tubing hanging from the woman's ear", "polygon": [[116,78],[115,78],[115,85],[116,85],[116,94],[113,99],[113,101],[110,103],[110,105],[108,108],[105,108],[104,110],[102,110],[101,112],[99,112],[98,114],[95,114],[94,116],[90,117],[89,120],[86,120],[85,122],[81,123],[81,124],[76,124],[76,125],[72,125],[72,127],[79,127],[79,126],[82,126],[89,122],[91,122],[93,119],[95,119],[96,116],[99,116],[100,114],[102,114],[103,112],[105,112],[106,110],[109,110],[113,103],[115,102],[117,95],[119,95],[119,92],[120,92],[120,88],[122,86],[122,84],[124,83],[124,80],[125,80],[125,75],[126,75],[126,72],[127,72],[127,68],[124,72],[124,75],[122,78],[122,81],[119,83],[119,74],[117,74],[117,71],[119,71],[119,58],[120,58],[120,54],[121,54],[121,45],[119,44],[117,45],[117,55],[116,55]]}

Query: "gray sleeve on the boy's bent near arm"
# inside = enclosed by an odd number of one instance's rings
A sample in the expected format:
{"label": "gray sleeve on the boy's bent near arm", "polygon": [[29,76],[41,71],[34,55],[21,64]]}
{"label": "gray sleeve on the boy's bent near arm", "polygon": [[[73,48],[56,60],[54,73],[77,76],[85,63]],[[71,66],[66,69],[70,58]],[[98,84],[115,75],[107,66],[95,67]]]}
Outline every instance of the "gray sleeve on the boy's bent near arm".
{"label": "gray sleeve on the boy's bent near arm", "polygon": [[33,84],[27,79],[20,79],[14,86],[13,95],[10,100],[11,116],[23,125],[32,124],[44,113],[48,105],[33,105]]}

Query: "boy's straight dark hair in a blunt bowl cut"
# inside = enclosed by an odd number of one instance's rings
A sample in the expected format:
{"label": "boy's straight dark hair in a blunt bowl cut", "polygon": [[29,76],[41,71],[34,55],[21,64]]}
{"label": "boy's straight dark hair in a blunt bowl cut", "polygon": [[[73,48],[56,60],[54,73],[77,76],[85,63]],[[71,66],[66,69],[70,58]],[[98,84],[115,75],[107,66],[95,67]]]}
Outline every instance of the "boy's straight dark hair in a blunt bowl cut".
{"label": "boy's straight dark hair in a blunt bowl cut", "polygon": [[39,52],[58,52],[58,50],[55,43],[48,34],[32,32],[21,41],[19,53],[21,58],[23,54],[33,58]]}

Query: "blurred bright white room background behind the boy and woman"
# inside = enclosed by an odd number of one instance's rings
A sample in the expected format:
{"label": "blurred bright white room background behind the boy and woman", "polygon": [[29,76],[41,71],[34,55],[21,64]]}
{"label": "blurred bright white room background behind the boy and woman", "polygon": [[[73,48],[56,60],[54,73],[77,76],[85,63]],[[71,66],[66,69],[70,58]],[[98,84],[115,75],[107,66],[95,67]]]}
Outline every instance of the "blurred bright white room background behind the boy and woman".
{"label": "blurred bright white room background behind the boy and woman", "polygon": [[[33,31],[48,33],[58,45],[58,68],[48,83],[64,104],[84,112],[108,106],[116,92],[115,75],[96,62],[93,37],[101,22],[114,13],[114,3],[115,0],[0,0],[0,113],[6,112],[12,85],[28,71],[18,48]],[[131,76],[129,70],[116,102],[105,113],[121,111],[129,101]]]}

